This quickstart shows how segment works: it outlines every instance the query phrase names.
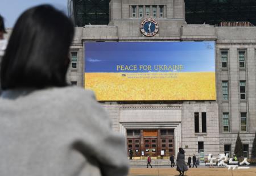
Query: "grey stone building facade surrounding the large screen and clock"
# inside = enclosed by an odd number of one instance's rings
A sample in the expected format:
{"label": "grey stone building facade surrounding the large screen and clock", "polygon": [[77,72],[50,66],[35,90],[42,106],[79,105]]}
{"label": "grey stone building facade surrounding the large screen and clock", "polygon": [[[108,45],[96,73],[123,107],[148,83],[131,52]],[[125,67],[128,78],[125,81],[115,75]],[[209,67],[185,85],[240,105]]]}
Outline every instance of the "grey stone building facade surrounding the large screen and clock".
{"label": "grey stone building facade surrounding the large screen and clock", "polygon": [[[146,18],[157,20],[159,31],[155,36],[144,36],[139,30]],[[245,154],[249,157],[256,131],[255,27],[188,25],[183,0],[112,0],[108,26],[76,27],[67,80],[84,87],[86,41],[205,40],[216,42],[216,100],[101,103],[113,120],[113,129],[127,137],[127,154],[130,144],[133,149],[135,145],[138,148],[135,156],[141,156],[142,150],[146,152],[146,140],[150,140],[150,148],[154,145],[158,150],[169,145],[165,156],[176,155],[179,147],[186,150],[187,157],[193,153],[199,156],[199,149],[204,149],[205,155],[233,154],[240,132]],[[202,129],[203,116],[206,116],[207,130]],[[196,118],[199,120],[197,132]],[[170,133],[165,136],[168,129]],[[152,139],[145,134],[151,134]],[[169,144],[165,139],[174,140],[174,143]]]}

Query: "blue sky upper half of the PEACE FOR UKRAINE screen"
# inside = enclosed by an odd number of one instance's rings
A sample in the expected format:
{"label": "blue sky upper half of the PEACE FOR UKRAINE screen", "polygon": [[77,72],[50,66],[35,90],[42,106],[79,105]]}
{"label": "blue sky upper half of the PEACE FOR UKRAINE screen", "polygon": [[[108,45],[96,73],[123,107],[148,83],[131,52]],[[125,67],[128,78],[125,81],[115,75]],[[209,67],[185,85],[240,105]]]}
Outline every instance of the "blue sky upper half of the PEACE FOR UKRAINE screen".
{"label": "blue sky upper half of the PEACE FOR UKRAINE screen", "polygon": [[214,41],[85,43],[85,72],[155,72],[117,71],[117,65],[183,65],[182,72],[215,72],[214,45]]}

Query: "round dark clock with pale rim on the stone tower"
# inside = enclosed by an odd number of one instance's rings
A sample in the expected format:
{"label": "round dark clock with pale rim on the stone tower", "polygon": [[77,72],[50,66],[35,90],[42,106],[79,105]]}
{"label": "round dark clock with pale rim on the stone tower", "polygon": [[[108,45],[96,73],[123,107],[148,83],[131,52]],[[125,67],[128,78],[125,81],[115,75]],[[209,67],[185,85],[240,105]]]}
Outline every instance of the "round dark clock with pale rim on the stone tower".
{"label": "round dark clock with pale rim on the stone tower", "polygon": [[152,18],[144,19],[141,22],[141,32],[144,36],[152,37],[158,33],[158,22]]}

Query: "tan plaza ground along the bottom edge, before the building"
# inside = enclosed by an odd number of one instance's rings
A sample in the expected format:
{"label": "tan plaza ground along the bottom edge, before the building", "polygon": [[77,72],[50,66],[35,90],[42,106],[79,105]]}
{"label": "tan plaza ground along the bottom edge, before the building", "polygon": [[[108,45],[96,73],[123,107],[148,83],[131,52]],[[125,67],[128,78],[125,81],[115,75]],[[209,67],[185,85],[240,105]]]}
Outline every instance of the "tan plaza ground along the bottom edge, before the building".
{"label": "tan plaza ground along the bottom edge, before the building", "polygon": [[[129,176],[167,176],[179,175],[175,168],[131,168]],[[184,175],[189,176],[256,176],[256,167],[250,169],[228,170],[227,168],[191,168]]]}

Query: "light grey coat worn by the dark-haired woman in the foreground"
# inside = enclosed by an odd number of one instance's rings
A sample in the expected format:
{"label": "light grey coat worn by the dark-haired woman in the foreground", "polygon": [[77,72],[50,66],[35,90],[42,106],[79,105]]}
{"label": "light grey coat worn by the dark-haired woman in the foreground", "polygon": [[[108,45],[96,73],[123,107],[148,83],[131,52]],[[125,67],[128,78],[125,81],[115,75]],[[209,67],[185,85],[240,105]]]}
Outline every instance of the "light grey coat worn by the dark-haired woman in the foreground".
{"label": "light grey coat worn by the dark-haired woman in the foreground", "polygon": [[0,175],[127,175],[125,139],[110,124],[91,91],[3,91]]}

